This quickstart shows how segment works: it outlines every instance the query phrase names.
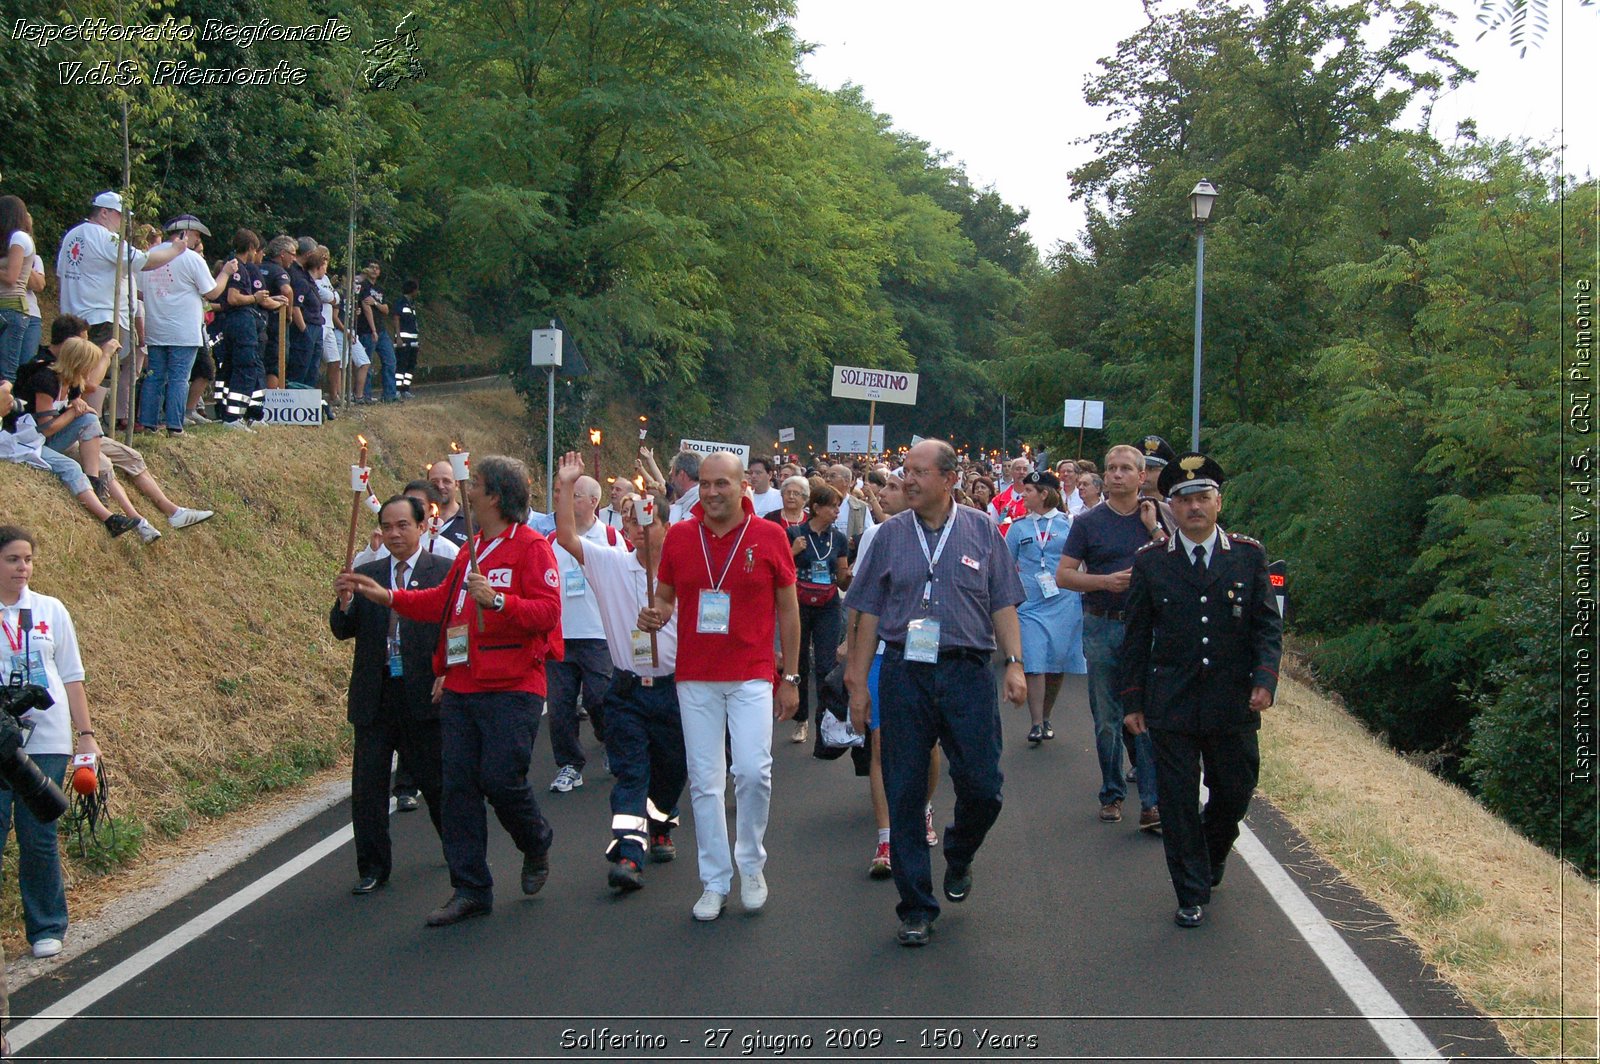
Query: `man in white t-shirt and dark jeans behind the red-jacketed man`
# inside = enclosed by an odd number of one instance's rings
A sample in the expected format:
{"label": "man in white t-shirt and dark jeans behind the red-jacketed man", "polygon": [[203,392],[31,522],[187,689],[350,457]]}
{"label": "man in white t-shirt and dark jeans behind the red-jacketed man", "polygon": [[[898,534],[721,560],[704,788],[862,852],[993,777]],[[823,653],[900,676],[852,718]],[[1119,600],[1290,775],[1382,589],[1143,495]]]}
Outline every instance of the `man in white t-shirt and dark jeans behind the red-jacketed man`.
{"label": "man in white t-shirt and dark jeans behind the red-jacketed man", "polygon": [[[571,491],[578,538],[606,546],[622,542],[614,528],[595,520],[600,483],[594,477],[579,477]],[[552,523],[552,531],[554,528]],[[582,565],[558,541],[555,541],[555,562],[562,574],[562,642],[566,650],[562,661],[546,662],[544,678],[549,685],[546,706],[550,714],[550,752],[555,755],[557,768],[550,790],[566,794],[584,786],[587,763],[582,741],[578,738],[579,691],[595,738],[605,742],[605,714],[600,704],[606,688],[611,686],[611,654],[605,645],[600,606],[584,578]]]}

